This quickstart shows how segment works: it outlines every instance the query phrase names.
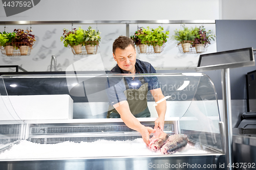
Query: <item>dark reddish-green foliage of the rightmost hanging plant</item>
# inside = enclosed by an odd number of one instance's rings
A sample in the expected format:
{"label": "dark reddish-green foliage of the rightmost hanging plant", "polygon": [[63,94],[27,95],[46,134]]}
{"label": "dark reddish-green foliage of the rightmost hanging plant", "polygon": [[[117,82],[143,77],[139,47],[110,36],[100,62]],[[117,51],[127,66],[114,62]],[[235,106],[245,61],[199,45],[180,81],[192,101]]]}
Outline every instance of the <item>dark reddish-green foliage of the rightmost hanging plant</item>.
{"label": "dark reddish-green foliage of the rightmost hanging plant", "polygon": [[206,43],[210,44],[210,41],[211,40],[215,41],[214,38],[216,37],[214,34],[212,34],[211,30],[206,31],[204,26],[196,28],[195,36],[196,36],[195,41],[199,41],[202,44],[206,44]]}

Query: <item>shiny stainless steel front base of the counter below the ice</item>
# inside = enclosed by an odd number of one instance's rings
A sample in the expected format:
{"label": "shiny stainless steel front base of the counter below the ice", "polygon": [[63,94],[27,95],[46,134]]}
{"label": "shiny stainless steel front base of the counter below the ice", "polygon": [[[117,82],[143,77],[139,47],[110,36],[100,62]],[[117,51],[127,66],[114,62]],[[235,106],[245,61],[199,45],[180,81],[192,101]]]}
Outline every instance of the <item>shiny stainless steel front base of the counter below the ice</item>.
{"label": "shiny stainless steel front base of the counter below the ice", "polygon": [[[84,169],[220,169],[222,154],[158,156],[158,157],[110,157],[91,159],[1,161],[3,170],[84,170]],[[204,168],[205,167],[205,168]]]}

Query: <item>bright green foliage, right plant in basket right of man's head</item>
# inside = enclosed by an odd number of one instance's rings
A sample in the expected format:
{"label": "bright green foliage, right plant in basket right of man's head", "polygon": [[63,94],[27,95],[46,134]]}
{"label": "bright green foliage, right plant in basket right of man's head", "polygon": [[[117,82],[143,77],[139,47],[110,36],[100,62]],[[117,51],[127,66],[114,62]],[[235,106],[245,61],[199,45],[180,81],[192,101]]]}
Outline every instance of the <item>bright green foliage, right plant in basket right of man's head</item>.
{"label": "bright green foliage, right plant in basket right of man's head", "polygon": [[159,26],[156,29],[152,29],[151,32],[151,41],[157,41],[157,43],[154,43],[153,46],[155,45],[159,45],[162,46],[163,45],[163,41],[167,42],[167,38],[169,38],[167,35],[169,34],[169,31],[166,31],[165,33],[163,32],[163,28],[161,26]]}

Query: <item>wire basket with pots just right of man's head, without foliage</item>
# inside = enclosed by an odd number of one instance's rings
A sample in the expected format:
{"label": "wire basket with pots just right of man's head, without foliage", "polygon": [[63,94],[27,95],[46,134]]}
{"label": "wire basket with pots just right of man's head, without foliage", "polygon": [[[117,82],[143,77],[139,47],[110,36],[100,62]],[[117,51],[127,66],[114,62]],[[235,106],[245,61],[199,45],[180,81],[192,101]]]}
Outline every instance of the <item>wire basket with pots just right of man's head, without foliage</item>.
{"label": "wire basket with pots just right of man's head, without foliage", "polygon": [[157,45],[158,41],[144,41],[144,44],[136,45],[138,54],[160,54],[163,52],[165,47],[165,41],[163,41],[163,45]]}

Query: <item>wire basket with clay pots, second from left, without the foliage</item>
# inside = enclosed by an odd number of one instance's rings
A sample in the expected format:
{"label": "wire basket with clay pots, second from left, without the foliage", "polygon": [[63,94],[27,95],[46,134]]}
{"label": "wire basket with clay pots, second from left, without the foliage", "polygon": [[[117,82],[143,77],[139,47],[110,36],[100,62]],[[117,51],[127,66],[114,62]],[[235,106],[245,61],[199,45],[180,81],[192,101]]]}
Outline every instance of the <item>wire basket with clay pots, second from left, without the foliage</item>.
{"label": "wire basket with clay pots, second from left, without the foliage", "polygon": [[[78,46],[81,46],[81,48]],[[98,46],[99,46],[98,41],[86,41],[77,46],[69,46],[69,47],[71,47],[71,50],[74,55],[91,55],[91,54],[97,54]]]}

